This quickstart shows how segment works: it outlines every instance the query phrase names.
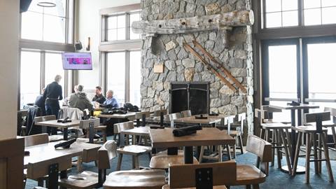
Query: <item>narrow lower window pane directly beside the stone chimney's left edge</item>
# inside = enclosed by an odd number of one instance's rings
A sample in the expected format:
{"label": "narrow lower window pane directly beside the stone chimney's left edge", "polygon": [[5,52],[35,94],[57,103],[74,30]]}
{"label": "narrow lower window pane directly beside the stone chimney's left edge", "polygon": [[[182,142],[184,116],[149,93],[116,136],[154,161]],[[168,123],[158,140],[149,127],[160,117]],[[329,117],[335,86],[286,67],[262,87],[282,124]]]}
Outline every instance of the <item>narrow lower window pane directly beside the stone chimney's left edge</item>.
{"label": "narrow lower window pane directly beside the stone chimney's left edge", "polygon": [[130,52],[130,102],[140,107],[141,104],[141,53]]}

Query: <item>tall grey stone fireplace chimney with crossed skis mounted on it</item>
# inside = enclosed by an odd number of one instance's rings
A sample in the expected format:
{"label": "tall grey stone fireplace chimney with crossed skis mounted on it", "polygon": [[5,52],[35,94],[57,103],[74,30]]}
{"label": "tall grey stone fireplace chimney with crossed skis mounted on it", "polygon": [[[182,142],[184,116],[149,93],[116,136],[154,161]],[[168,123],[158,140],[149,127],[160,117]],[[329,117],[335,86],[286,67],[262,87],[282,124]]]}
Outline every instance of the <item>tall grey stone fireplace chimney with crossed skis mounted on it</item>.
{"label": "tall grey stone fireplace chimney with crossed skis mounted on it", "polygon": [[[141,0],[142,20],[170,20],[203,15],[249,10],[251,0]],[[141,108],[155,111],[160,106],[169,110],[171,83],[209,83],[209,111],[225,115],[247,113],[248,131],[253,132],[253,62],[251,26],[232,27],[225,41],[223,30],[189,34],[142,35],[141,49]],[[194,47],[196,40],[232,76],[246,87],[242,92],[225,74],[237,92],[231,90],[218,76],[209,71],[183,43]],[[228,44],[225,44],[228,43]],[[196,50],[196,49],[195,49]],[[202,52],[196,50],[204,57]],[[207,58],[206,58],[207,59]],[[209,59],[207,59],[211,62]],[[155,65],[164,65],[162,73],[155,73]],[[207,110],[205,110],[207,111]],[[246,132],[247,133],[247,132]]]}

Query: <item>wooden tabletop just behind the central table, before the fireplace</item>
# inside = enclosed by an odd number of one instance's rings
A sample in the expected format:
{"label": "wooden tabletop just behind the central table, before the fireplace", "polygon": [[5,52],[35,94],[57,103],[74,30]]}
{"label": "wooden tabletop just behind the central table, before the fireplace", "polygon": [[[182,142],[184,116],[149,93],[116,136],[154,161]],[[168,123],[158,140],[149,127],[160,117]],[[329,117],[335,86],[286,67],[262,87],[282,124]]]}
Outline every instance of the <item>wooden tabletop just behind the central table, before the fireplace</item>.
{"label": "wooden tabletop just behind the central table, before the fireplace", "polygon": [[178,118],[174,120],[174,123],[180,123],[180,124],[192,123],[192,124],[199,124],[199,125],[212,125],[214,127],[216,123],[221,122],[221,117],[219,116],[208,116],[208,115],[203,115],[203,116],[207,117],[207,119],[197,119],[195,118],[195,116],[190,116],[186,118]]}

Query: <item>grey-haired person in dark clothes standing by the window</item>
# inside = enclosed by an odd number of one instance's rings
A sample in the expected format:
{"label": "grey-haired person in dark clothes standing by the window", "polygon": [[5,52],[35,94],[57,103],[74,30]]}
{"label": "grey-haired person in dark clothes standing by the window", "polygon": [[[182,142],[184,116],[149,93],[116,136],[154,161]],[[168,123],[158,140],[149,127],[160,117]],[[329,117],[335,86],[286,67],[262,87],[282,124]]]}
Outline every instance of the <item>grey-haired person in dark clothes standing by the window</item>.
{"label": "grey-haired person in dark clothes standing by the window", "polygon": [[[55,115],[56,119],[58,119],[59,115],[59,100],[63,99],[62,96],[62,86],[59,85],[62,76],[56,75],[55,81],[47,85],[45,87],[45,91],[43,93],[43,98],[45,98],[45,113],[47,116]],[[57,129],[52,127],[48,128],[48,132],[51,131],[51,134],[57,134]]]}

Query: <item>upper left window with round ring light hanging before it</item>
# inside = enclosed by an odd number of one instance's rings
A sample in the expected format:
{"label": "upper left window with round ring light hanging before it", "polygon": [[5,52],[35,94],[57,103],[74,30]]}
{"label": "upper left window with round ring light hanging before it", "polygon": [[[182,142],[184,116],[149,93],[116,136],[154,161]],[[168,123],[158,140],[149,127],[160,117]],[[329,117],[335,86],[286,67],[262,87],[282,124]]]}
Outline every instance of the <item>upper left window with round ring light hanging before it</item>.
{"label": "upper left window with round ring light hanging before it", "polygon": [[28,11],[22,13],[21,38],[72,43],[73,0],[54,0],[53,3],[55,7],[42,7],[38,6],[38,0],[31,1]]}

